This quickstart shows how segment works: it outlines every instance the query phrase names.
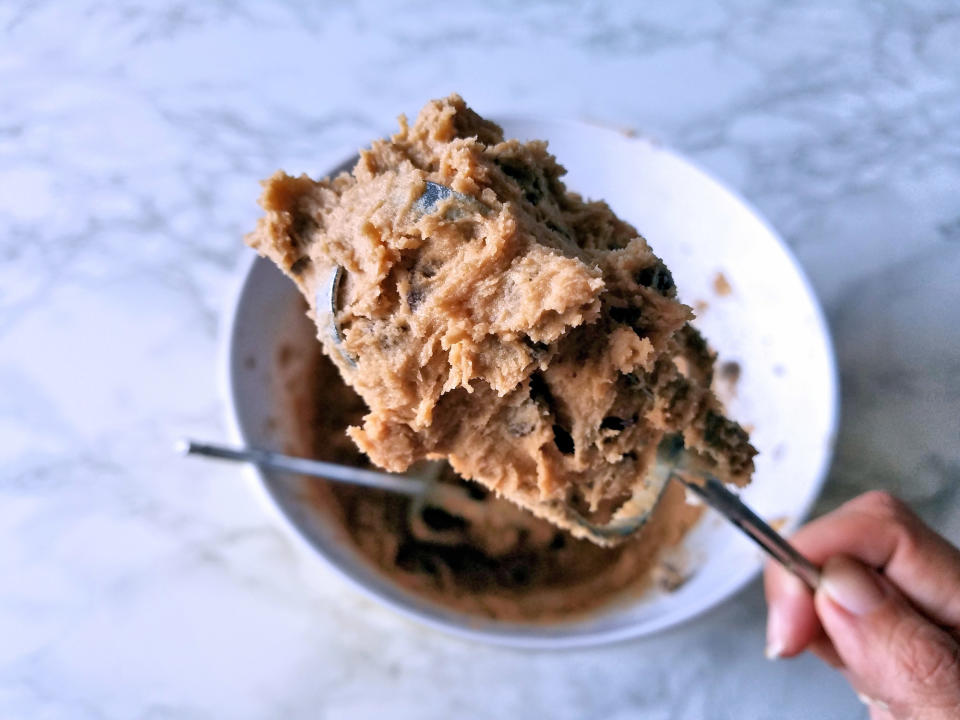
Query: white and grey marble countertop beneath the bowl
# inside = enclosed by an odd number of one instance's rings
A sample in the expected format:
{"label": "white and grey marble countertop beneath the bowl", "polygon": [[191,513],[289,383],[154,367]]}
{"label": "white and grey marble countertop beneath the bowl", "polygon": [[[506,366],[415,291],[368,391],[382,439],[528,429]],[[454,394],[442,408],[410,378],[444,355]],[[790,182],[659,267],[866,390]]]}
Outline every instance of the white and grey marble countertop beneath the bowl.
{"label": "white and grey marble countertop beneath the bowl", "polygon": [[836,340],[820,510],[891,488],[960,539],[956,3],[637,5],[0,6],[0,717],[864,716],[764,660],[759,583],[640,641],[471,645],[308,582],[235,468],[170,451],[225,434],[258,179],[456,90],[652,135],[746,196]]}

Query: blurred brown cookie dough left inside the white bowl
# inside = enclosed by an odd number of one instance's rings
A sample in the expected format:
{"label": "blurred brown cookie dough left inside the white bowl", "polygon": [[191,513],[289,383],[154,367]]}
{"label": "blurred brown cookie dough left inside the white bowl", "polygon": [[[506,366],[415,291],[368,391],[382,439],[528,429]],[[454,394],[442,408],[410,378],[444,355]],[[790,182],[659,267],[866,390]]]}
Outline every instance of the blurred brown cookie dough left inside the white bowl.
{"label": "blurred brown cookie dough left inside the white bowl", "polygon": [[[346,434],[367,412],[319,350],[278,358],[276,414],[285,451],[369,467]],[[671,591],[689,563],[675,547],[702,513],[671,485],[653,519],[628,541],[604,548],[578,540],[449,469],[440,482],[466,489],[473,512],[411,507],[408,497],[342,483],[304,483],[305,501],[335,523],[360,557],[392,582],[445,607],[485,618],[572,620],[652,587]],[[471,520],[477,508],[496,524]],[[665,581],[665,578],[669,582]]]}

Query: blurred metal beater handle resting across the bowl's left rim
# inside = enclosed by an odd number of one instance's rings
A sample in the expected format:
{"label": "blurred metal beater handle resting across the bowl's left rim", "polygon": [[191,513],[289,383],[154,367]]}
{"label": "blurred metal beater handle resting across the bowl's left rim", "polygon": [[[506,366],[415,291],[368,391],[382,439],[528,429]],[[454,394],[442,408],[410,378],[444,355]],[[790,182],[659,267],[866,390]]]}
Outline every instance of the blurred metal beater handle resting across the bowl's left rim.
{"label": "blurred metal beater handle resting across the bowl's left rim", "polygon": [[261,450],[259,448],[244,448],[239,450],[224,445],[201,443],[194,440],[182,440],[177,444],[177,449],[184,455],[203,455],[221,460],[248,462],[258,465],[259,467],[271,468],[273,470],[282,470],[300,475],[311,475],[326,480],[336,480],[338,482],[350,483],[351,485],[363,485],[364,487],[390,490],[407,495],[421,495],[427,490],[426,481],[407,475],[392,475],[390,473],[377,472],[376,470],[362,470],[349,465],[337,465],[336,463],[323,462],[322,460],[293,457],[291,455],[283,455],[282,453],[271,450]]}

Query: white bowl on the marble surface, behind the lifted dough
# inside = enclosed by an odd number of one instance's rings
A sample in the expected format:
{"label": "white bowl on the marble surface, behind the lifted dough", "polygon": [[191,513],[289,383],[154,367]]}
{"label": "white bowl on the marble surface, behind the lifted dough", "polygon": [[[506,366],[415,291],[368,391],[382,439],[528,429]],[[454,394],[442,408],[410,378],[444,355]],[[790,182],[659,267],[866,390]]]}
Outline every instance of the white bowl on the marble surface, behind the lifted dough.
{"label": "white bowl on the marble surface, behind the lifted dough", "polygon": [[[546,139],[569,171],[568,186],[605,199],[633,223],[673,272],[680,297],[707,303],[696,324],[720,360],[742,368],[730,414],[753,428],[760,450],[744,500],[789,532],[813,504],[828,469],[837,420],[833,350],[817,301],[777,234],[734,193],[656,143],[578,123],[502,118],[507,137]],[[349,166],[350,163],[347,165]],[[334,168],[336,170],[336,168]],[[732,292],[722,296],[722,272]],[[270,368],[280,343],[311,337],[297,291],[268,262],[251,258],[224,334],[223,377],[233,440],[277,446]],[[251,361],[252,358],[252,361]],[[299,500],[300,480],[254,472],[277,521],[307,554],[366,592],[428,625],[522,647],[594,645],[646,635],[723,602],[756,576],[759,550],[708,513],[684,541],[690,579],[590,616],[549,625],[457,613],[405,591],[363,561],[335,523]]]}

